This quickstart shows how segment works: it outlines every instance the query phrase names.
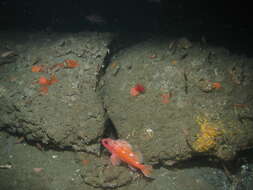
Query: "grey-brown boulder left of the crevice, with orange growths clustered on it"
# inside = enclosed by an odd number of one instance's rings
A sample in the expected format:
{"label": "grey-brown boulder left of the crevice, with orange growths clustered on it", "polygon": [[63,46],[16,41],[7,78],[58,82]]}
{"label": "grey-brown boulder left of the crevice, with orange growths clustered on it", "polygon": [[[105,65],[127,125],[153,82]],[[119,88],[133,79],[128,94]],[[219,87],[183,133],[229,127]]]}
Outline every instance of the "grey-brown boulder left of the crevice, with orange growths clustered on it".
{"label": "grey-brown boulder left of the crevice, with orange growths clustered on it", "polygon": [[[0,65],[0,129],[60,148],[98,153],[105,114],[95,89],[111,38],[107,33],[77,33],[6,39],[1,52],[8,45],[16,59]],[[79,65],[59,66],[65,60]],[[32,72],[34,65],[43,65],[43,72]],[[48,92],[38,84],[41,76],[56,77]]]}

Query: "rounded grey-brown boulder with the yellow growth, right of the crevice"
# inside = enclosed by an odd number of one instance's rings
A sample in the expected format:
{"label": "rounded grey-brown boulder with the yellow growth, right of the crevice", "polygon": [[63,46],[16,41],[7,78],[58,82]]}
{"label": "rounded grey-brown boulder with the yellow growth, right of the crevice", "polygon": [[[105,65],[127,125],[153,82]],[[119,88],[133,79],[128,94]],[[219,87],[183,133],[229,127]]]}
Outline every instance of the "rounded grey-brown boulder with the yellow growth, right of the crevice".
{"label": "rounded grey-brown boulder with the yellow growth, right of the crevice", "polygon": [[[185,41],[151,39],[124,49],[101,83],[119,138],[137,145],[145,163],[229,160],[253,145],[252,60]],[[131,96],[136,84],[145,92]]]}

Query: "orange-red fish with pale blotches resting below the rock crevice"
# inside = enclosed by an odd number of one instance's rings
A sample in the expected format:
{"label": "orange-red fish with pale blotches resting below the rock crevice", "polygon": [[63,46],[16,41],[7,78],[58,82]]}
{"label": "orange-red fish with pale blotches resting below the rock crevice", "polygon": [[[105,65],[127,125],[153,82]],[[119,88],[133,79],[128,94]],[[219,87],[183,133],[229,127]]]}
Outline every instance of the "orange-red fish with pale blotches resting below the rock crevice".
{"label": "orange-red fish with pale blotches resting below the rock crevice", "polygon": [[131,145],[125,140],[102,139],[103,146],[111,155],[112,165],[119,165],[121,161],[128,164],[130,168],[137,168],[146,176],[150,177],[152,166],[141,164],[141,155],[133,152]]}

